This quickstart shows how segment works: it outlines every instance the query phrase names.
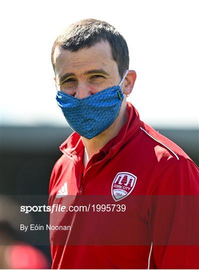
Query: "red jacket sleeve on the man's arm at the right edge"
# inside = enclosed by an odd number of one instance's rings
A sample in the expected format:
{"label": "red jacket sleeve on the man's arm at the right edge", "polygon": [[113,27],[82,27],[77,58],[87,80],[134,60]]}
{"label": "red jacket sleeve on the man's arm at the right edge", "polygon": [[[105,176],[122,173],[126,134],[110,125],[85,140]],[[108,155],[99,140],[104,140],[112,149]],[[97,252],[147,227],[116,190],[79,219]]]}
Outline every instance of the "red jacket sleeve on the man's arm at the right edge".
{"label": "red jacket sleeve on the man's arm at the right edge", "polygon": [[[159,176],[149,206],[152,268],[199,268],[199,172],[175,160]],[[151,266],[152,265],[152,266]]]}

